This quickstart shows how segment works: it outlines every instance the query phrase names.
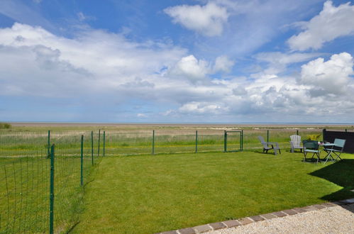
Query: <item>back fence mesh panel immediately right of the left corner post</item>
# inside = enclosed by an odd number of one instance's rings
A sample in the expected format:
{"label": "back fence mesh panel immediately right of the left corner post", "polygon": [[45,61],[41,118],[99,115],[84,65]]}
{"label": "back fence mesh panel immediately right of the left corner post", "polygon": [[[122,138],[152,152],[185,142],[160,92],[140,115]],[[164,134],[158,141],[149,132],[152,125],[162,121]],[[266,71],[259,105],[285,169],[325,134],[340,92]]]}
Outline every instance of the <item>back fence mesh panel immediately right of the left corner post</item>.
{"label": "back fence mesh panel immediately right of the left corner post", "polygon": [[105,155],[140,155],[152,152],[151,130],[105,131]]}

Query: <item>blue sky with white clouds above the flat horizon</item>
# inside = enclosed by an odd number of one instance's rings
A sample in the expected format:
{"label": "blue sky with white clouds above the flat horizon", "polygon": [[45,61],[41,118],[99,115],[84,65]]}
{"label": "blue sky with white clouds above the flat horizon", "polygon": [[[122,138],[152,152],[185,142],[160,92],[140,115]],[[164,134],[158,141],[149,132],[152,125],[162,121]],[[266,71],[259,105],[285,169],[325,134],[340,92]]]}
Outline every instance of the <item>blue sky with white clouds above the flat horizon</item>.
{"label": "blue sky with white clouds above the flat horizon", "polygon": [[0,0],[0,121],[354,123],[354,2]]}

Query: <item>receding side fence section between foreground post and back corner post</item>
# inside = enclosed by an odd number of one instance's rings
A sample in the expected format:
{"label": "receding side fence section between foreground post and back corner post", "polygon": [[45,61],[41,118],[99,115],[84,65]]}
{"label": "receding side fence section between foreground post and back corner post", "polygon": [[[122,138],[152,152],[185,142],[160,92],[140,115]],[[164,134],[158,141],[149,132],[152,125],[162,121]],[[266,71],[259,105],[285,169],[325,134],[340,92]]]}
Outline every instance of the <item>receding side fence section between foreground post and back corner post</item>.
{"label": "receding side fence section between foreground post and back corner post", "polygon": [[53,131],[55,144],[55,232],[66,232],[79,221],[84,191],[99,155],[99,131]]}

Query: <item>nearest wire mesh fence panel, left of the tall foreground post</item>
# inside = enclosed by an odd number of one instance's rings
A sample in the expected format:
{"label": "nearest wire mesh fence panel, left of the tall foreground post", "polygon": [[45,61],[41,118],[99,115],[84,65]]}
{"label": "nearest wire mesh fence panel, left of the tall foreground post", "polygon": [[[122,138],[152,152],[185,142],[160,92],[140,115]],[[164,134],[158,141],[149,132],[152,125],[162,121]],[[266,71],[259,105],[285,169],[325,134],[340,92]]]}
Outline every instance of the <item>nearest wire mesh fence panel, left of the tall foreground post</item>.
{"label": "nearest wire mesh fence panel, left of the tall foreground post", "polygon": [[0,233],[48,230],[48,159],[0,158]]}

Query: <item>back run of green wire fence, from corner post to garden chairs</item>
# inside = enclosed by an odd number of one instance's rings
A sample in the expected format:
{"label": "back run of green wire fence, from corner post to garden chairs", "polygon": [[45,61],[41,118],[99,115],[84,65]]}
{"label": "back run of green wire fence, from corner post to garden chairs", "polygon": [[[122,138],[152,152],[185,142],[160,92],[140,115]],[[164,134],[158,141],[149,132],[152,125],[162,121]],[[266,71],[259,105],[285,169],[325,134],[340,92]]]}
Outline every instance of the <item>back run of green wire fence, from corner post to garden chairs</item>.
{"label": "back run of green wire fence, from corner post to garden chairs", "polygon": [[[228,134],[225,137],[225,133]],[[321,129],[176,129],[176,130],[106,130],[106,155],[145,155],[177,152],[232,152],[261,149],[258,135],[289,148],[289,136],[321,135]],[[225,150],[225,146],[227,149]]]}

